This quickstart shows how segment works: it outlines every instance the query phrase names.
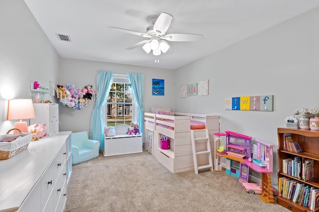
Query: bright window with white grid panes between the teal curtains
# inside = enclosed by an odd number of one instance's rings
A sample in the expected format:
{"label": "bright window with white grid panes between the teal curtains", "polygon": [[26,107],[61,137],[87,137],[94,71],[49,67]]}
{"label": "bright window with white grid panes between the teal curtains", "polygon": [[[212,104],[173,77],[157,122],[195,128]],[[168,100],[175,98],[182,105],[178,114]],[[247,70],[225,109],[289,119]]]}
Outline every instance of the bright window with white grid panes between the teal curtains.
{"label": "bright window with white grid panes between the teal curtains", "polygon": [[114,75],[107,102],[103,106],[104,126],[130,125],[135,121],[136,103],[132,85],[126,75]]}

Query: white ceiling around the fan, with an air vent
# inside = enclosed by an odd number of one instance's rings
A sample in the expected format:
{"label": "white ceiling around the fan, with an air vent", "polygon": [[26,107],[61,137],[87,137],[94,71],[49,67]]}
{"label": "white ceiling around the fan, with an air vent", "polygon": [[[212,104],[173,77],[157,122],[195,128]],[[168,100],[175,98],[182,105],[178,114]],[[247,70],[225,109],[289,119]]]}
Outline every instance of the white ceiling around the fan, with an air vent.
{"label": "white ceiling around the fan, with an air vent", "polygon": [[[319,6],[319,0],[24,0],[62,58],[177,69]],[[108,26],[146,33],[150,18],[169,13],[166,34],[202,34],[195,42],[169,42],[160,63],[142,47],[145,38]],[[56,33],[69,35],[60,41]]]}

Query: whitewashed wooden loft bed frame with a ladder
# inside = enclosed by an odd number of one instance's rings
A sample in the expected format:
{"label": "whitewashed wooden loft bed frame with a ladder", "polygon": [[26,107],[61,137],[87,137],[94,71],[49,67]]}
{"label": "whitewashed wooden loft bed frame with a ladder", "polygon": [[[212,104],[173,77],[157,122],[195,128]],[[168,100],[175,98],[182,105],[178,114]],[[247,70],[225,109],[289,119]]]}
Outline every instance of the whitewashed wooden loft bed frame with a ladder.
{"label": "whitewashed wooden loft bed frame with a ladder", "polygon": [[[167,122],[165,119],[171,121]],[[178,112],[171,116],[144,113],[145,132],[153,133],[152,154],[172,173],[194,170],[190,138],[191,120],[205,123],[209,132],[211,151],[214,153],[214,133],[219,133],[219,116]],[[194,135],[196,138],[205,137],[205,129],[194,130]],[[166,136],[170,140],[169,149],[160,148],[161,136]],[[196,143],[196,150],[201,151],[201,149],[206,149],[206,142]],[[198,155],[197,162],[198,165],[208,164],[208,158],[205,155]]]}

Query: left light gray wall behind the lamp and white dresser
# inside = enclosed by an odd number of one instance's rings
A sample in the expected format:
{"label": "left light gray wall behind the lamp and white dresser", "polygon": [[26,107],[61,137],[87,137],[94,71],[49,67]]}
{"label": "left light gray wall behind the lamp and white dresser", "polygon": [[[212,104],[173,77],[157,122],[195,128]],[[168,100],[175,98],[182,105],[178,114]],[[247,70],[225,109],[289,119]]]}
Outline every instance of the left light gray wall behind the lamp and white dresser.
{"label": "left light gray wall behind the lamp and white dresser", "polygon": [[0,134],[16,122],[5,121],[7,100],[32,98],[33,81],[47,88],[57,81],[59,59],[24,1],[0,0]]}

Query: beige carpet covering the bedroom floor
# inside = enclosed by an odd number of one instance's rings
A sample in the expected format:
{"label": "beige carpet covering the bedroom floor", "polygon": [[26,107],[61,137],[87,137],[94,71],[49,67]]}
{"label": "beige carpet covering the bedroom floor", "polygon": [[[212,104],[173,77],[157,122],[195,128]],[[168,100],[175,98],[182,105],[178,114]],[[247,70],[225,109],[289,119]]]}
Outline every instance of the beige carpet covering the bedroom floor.
{"label": "beige carpet covering the bedroom floor", "polygon": [[73,165],[66,212],[289,212],[223,172],[173,174],[148,152]]}

